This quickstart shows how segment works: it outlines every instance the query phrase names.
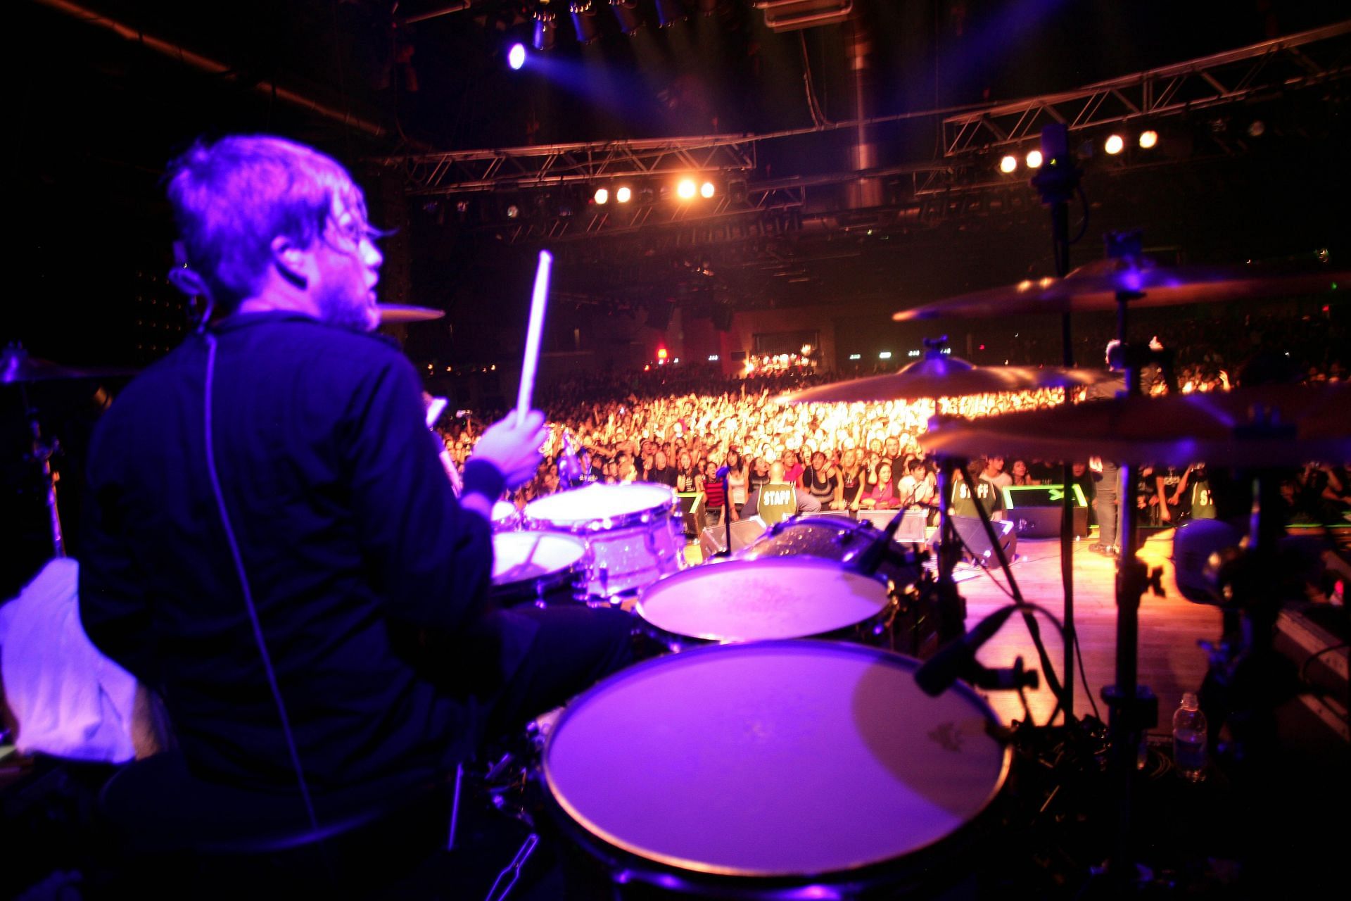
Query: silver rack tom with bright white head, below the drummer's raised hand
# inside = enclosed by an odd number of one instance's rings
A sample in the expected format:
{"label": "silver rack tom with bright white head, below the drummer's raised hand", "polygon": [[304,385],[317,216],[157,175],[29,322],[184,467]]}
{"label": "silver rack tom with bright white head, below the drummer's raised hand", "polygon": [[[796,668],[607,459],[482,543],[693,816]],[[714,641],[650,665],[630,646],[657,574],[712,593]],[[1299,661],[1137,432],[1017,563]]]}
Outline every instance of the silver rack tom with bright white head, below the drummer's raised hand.
{"label": "silver rack tom with bright white head, below the drummer's raised hand", "polygon": [[590,548],[586,590],[613,598],[651,585],[685,562],[676,492],[665,485],[588,485],[526,505],[527,530],[566,532]]}

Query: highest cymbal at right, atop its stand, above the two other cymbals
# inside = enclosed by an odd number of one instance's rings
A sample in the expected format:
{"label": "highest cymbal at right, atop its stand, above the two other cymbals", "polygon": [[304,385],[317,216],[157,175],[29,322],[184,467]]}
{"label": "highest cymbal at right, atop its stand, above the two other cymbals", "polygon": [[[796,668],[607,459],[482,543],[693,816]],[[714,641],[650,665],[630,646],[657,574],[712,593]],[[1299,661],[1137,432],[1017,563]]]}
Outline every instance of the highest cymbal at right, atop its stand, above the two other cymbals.
{"label": "highest cymbal at right, atop its stand, above the two other cymbals", "polygon": [[1065,278],[1024,280],[1016,285],[959,294],[892,315],[915,319],[984,319],[1019,313],[1081,313],[1116,309],[1117,292],[1143,293],[1129,305],[1177,307],[1210,301],[1258,300],[1343,290],[1351,272],[1265,266],[1159,266],[1147,257],[1102,259]]}

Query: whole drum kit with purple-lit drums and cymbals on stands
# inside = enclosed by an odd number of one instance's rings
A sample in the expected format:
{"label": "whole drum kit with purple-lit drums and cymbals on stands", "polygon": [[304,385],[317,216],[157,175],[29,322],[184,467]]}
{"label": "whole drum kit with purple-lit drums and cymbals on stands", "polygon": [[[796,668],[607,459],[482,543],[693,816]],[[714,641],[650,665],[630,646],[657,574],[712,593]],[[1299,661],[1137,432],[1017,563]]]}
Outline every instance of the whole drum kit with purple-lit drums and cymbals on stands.
{"label": "whole drum kit with purple-lit drums and cymbals on stands", "polygon": [[[994,309],[1063,315],[1101,309],[1109,297],[1125,342],[1128,304],[1300,294],[1327,290],[1346,277],[1165,269],[1139,257],[1113,258],[1065,278],[959,297],[897,313],[897,319],[977,316]],[[1131,351],[1121,357],[1125,381],[1136,392],[1139,359],[1148,354],[1125,347]],[[924,359],[896,374],[781,400],[961,396],[1085,386],[1105,378],[1116,377],[1073,367],[971,366],[931,347]],[[963,458],[990,447],[1066,462],[1102,455],[1121,466],[1123,485],[1132,484],[1146,463],[1204,459],[1210,467],[1235,467],[1256,486],[1260,515],[1246,551],[1256,571],[1270,559],[1265,555],[1281,530],[1273,516],[1269,467],[1351,458],[1348,411],[1351,388],[1344,385],[1166,397],[1127,393],[985,420],[939,417],[920,442],[944,465],[943,497],[950,496]],[[921,581],[917,558],[908,559],[904,551],[874,552],[888,559],[885,571],[878,571],[884,566],[878,559],[859,569],[855,558],[892,544],[890,534],[800,519],[732,559],[676,571],[678,552],[662,557],[661,551],[678,551],[677,508],[667,498],[642,511],[609,508],[608,498],[628,497],[624,492],[592,486],[535,501],[538,507],[527,507],[521,516],[528,531],[513,534],[581,539],[593,561],[584,566],[589,574],[576,584],[585,581],[592,598],[616,588],[635,592],[632,609],[644,628],[661,636],[666,648],[681,651],[612,675],[574,698],[554,724],[540,771],[546,800],[565,832],[604,865],[619,887],[639,883],[711,897],[836,898],[893,897],[917,885],[912,879],[921,870],[924,890],[942,887],[944,879],[961,881],[952,871],[943,875],[942,862],[959,859],[965,843],[979,832],[973,827],[1002,790],[1013,746],[969,685],[958,682],[936,697],[927,696],[916,684],[919,661],[894,654],[882,639],[896,616],[896,585]],[[669,523],[669,531],[665,523],[654,528],[658,520]],[[1135,558],[1133,520],[1132,505],[1123,504],[1117,678],[1104,690],[1116,808],[1106,873],[1119,881],[1136,873],[1131,781],[1140,733],[1156,717],[1156,701],[1138,685],[1136,644],[1140,597],[1151,586],[1158,589],[1158,573],[1147,573]],[[634,528],[634,534],[612,540],[612,527]],[[674,544],[665,543],[667,535]],[[961,542],[942,544],[940,557],[948,557],[948,548],[955,551]],[[609,569],[624,578],[600,578],[594,561],[601,558],[613,561]],[[676,565],[663,569],[665,559]],[[940,559],[939,585],[950,577],[951,559]],[[1260,631],[1274,616],[1270,602],[1258,597],[1270,580],[1256,582],[1256,589],[1248,586],[1240,594],[1248,604],[1246,615]],[[951,584],[947,590],[955,596]],[[970,657],[994,627],[982,623],[966,632],[962,605],[944,604],[942,592],[940,638]],[[1015,594],[1021,597],[1016,584]],[[1028,607],[1016,609],[1028,616]],[[1006,612],[997,621],[1004,619]],[[1073,621],[1066,623],[1067,644],[1071,628]],[[1254,643],[1262,640],[1250,643],[1246,654]],[[1067,686],[1058,684],[1044,652],[1042,665],[1066,723],[1073,723]],[[1063,675],[1067,682],[1071,673]]]}

